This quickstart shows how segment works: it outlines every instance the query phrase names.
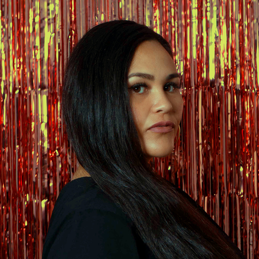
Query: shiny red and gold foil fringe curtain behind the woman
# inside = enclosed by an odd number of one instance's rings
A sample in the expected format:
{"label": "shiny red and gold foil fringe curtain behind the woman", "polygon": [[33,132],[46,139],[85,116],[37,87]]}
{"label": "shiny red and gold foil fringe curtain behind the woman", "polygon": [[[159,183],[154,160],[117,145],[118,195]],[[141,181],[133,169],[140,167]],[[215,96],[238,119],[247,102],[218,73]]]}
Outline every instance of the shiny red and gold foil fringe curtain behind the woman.
{"label": "shiny red and gold foil fringe curtain behind the woman", "polygon": [[62,71],[93,26],[134,19],[166,38],[182,75],[174,152],[157,174],[259,258],[257,1],[0,0],[0,257],[41,258],[76,157],[61,120]]}

